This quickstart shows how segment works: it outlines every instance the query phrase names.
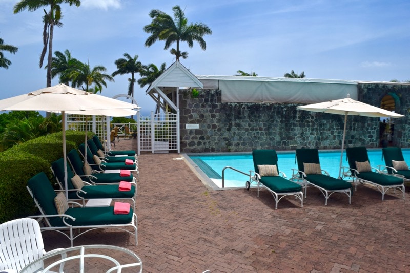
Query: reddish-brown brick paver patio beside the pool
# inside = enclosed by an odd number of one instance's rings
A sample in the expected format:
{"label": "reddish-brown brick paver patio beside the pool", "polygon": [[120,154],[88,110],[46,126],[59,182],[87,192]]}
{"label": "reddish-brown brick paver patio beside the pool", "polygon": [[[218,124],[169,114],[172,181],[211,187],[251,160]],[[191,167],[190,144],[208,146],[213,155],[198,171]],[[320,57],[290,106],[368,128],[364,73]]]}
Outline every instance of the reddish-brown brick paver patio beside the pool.
{"label": "reddish-brown brick paver patio beside the pool", "polygon": [[[116,142],[135,149],[135,140]],[[256,189],[213,191],[181,157],[141,154],[138,245],[114,229],[80,236],[74,245],[112,244],[133,250],[144,272],[410,272],[410,212],[401,195],[358,186],[352,204],[334,194],[329,204],[313,188],[303,208],[293,198]],[[69,240],[43,233],[46,250]],[[98,261],[89,272],[98,272]],[[74,271],[75,269],[73,269]]]}

